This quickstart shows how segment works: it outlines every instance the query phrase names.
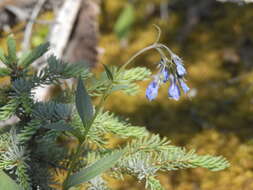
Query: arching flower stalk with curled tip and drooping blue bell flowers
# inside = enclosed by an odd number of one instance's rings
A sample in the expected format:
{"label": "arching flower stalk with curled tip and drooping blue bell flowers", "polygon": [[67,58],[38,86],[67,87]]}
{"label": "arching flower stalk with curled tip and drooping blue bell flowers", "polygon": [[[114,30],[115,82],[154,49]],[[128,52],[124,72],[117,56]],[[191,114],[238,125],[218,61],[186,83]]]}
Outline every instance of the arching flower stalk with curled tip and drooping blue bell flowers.
{"label": "arching flower stalk with curled tip and drooping blue bell flowers", "polygon": [[155,49],[160,54],[161,61],[158,63],[158,73],[153,76],[153,81],[146,89],[146,97],[149,101],[154,100],[158,96],[160,84],[170,81],[168,97],[174,100],[179,100],[181,96],[179,86],[181,86],[185,94],[190,90],[188,85],[184,82],[184,77],[186,76],[187,71],[184,67],[183,60],[173,53],[166,45],[159,43],[161,30],[158,26],[155,25],[155,27],[158,30],[158,37],[155,43],[134,54],[124,65],[121,66],[120,71],[126,68],[139,55],[146,51]]}

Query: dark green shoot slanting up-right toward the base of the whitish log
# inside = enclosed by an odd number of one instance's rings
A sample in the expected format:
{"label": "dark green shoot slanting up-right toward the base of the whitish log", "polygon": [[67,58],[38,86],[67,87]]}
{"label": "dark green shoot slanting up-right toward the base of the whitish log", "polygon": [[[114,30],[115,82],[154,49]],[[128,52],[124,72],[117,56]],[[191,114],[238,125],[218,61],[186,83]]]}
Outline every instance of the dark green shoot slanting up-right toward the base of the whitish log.
{"label": "dark green shoot slanting up-right toward the base of the whitish log", "polygon": [[48,51],[49,48],[49,42],[46,42],[44,44],[41,44],[34,48],[30,53],[26,54],[20,61],[19,65],[23,67],[28,67],[30,64],[32,64],[36,59],[44,55]]}

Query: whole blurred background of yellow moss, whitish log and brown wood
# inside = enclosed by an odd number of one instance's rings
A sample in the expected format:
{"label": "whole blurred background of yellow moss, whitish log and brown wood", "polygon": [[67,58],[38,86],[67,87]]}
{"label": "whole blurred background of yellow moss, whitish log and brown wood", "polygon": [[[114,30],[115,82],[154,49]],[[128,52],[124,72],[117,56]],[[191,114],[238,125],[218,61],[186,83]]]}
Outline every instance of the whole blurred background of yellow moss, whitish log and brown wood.
{"label": "whole blurred background of yellow moss, whitish log and brown wood", "polygon": [[[67,61],[121,65],[157,37],[185,63],[189,97],[173,101],[162,86],[155,101],[115,93],[107,108],[136,125],[168,136],[200,154],[223,155],[231,167],[161,173],[168,190],[253,190],[253,3],[231,0],[0,0],[0,45],[14,33],[20,51],[49,40]],[[156,72],[159,55],[131,66]],[[40,64],[36,65],[37,67]],[[5,79],[0,79],[0,85]],[[51,89],[52,90],[52,89]],[[134,179],[112,182],[119,190],[144,189]]]}

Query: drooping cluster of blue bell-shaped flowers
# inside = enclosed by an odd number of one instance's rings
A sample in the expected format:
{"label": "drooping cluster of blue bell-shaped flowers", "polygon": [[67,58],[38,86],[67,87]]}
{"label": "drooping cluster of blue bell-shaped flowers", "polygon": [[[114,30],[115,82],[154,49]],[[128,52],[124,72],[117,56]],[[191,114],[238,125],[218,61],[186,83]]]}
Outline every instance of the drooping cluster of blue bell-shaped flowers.
{"label": "drooping cluster of blue bell-shaped flowers", "polygon": [[146,90],[146,97],[149,101],[157,97],[160,85],[167,81],[170,82],[168,97],[174,100],[179,100],[180,98],[180,87],[185,94],[190,90],[184,79],[187,73],[186,69],[184,68],[182,59],[177,55],[172,54],[171,60],[167,58],[162,59],[158,67],[158,74],[154,76],[154,80],[148,85]]}

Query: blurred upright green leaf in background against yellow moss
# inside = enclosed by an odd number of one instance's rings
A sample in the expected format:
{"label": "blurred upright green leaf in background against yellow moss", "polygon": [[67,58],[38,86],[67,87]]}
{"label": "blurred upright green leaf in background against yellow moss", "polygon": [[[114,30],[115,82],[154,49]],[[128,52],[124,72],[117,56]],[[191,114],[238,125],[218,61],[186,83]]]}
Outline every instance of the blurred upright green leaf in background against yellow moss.
{"label": "blurred upright green leaf in background against yellow moss", "polygon": [[114,26],[114,32],[117,34],[118,38],[124,38],[128,34],[133,22],[134,6],[128,4],[120,14]]}

